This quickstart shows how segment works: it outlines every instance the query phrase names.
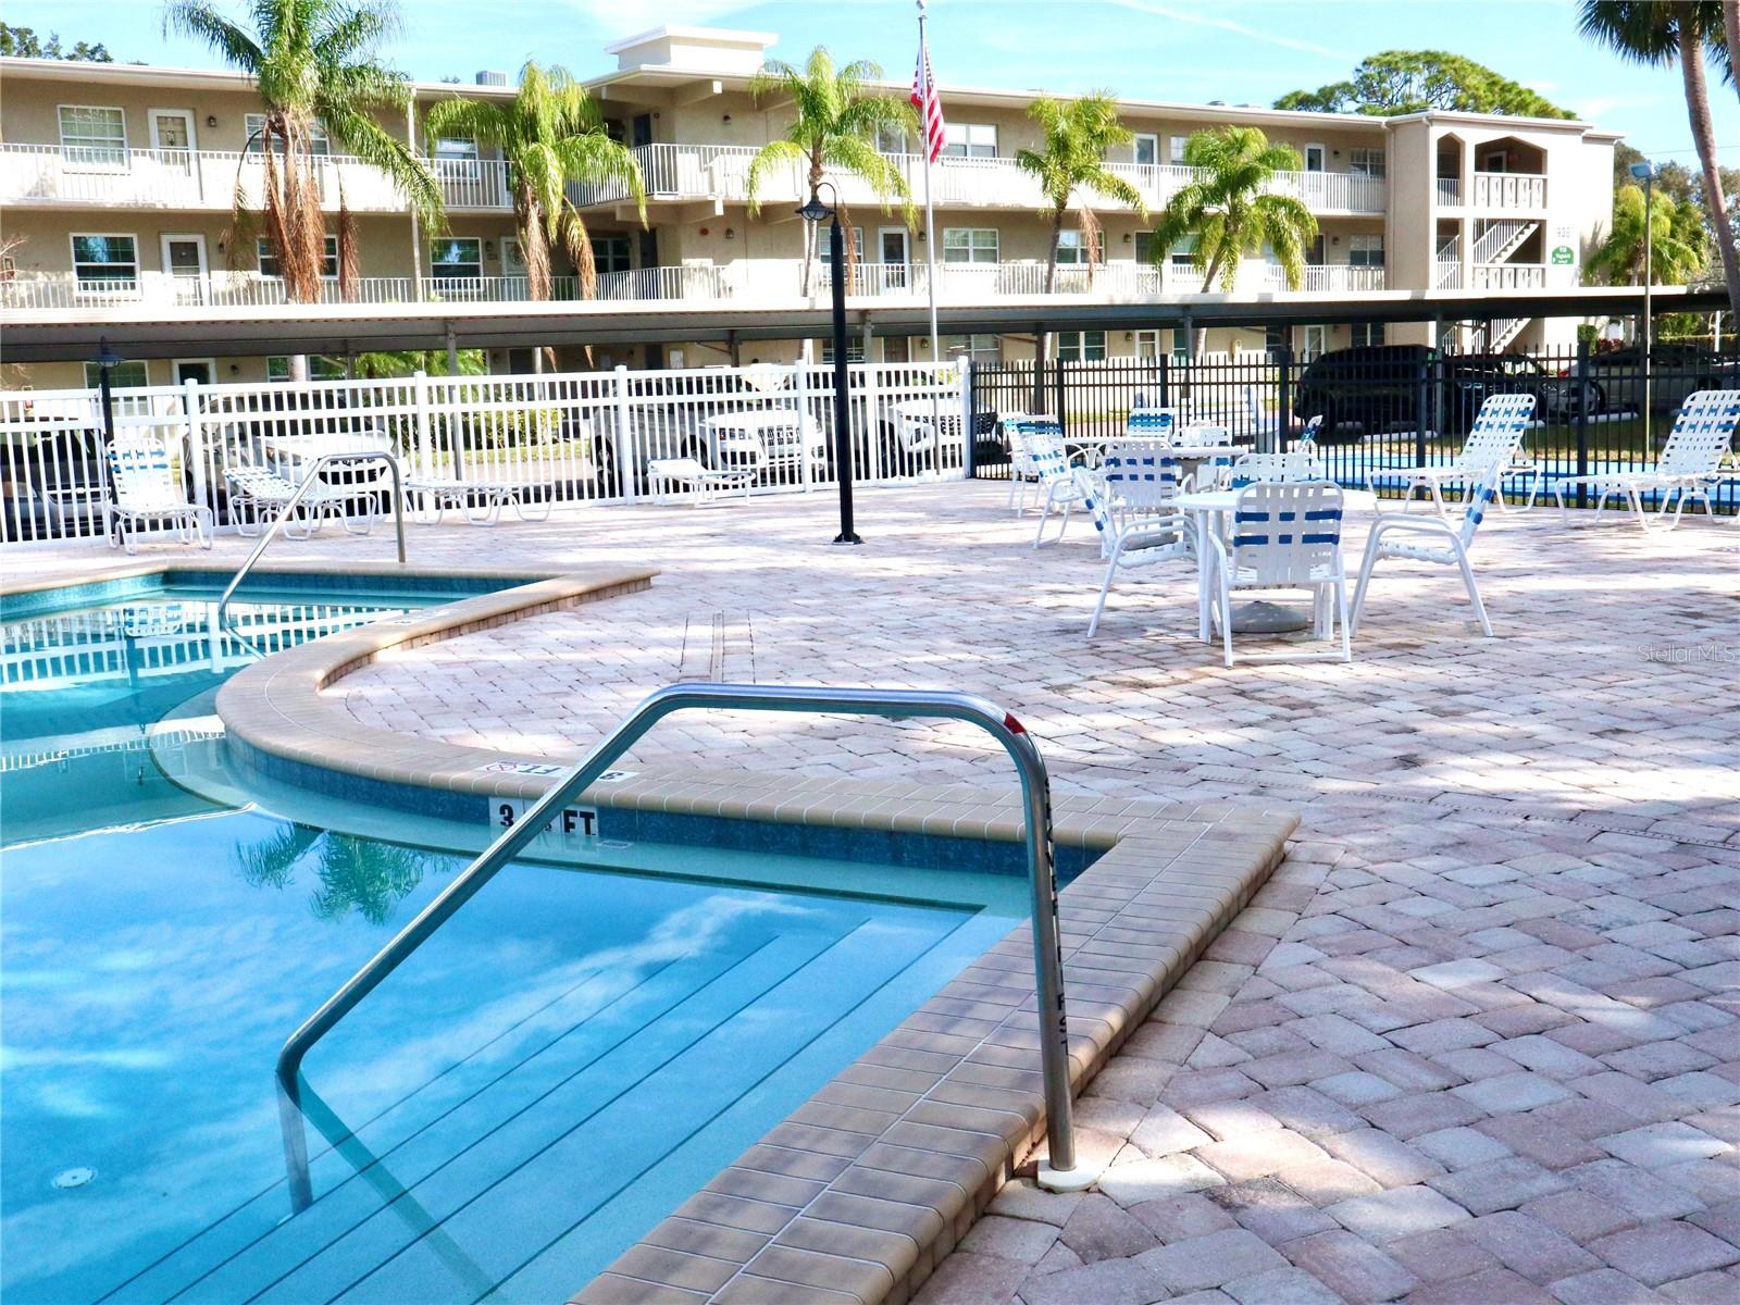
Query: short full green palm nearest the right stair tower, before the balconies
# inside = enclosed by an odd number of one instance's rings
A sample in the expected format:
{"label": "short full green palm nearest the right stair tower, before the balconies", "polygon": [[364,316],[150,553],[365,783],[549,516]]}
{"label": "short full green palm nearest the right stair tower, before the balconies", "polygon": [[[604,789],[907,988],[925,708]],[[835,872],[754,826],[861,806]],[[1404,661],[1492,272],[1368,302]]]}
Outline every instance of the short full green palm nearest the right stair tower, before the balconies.
{"label": "short full green palm nearest the right stair tower, before the balconies", "polygon": [[[1258,127],[1216,127],[1185,141],[1185,164],[1194,179],[1178,190],[1154,230],[1154,258],[1185,237],[1195,237],[1192,261],[1202,289],[1216,282],[1232,291],[1246,254],[1270,254],[1281,264],[1288,289],[1305,280],[1305,249],[1317,238],[1317,219],[1291,195],[1274,195],[1275,172],[1303,167],[1291,144],[1270,144]],[[1201,357],[1208,331],[1195,332],[1192,351]]]}

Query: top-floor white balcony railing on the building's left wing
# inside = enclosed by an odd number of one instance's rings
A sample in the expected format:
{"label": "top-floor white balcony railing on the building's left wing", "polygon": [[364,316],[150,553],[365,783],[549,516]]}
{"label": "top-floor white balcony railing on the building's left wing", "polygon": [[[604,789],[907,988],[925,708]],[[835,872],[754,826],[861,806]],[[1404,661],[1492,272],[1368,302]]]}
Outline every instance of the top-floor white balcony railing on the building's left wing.
{"label": "top-floor white balcony railing on the building's left wing", "polygon": [[[372,164],[350,155],[313,160],[320,205],[336,212],[404,212],[398,188]],[[449,209],[512,207],[499,158],[428,160]],[[63,150],[0,144],[0,204],[101,205],[106,209],[209,209],[228,212],[237,186],[259,207],[264,157],[219,150]]]}

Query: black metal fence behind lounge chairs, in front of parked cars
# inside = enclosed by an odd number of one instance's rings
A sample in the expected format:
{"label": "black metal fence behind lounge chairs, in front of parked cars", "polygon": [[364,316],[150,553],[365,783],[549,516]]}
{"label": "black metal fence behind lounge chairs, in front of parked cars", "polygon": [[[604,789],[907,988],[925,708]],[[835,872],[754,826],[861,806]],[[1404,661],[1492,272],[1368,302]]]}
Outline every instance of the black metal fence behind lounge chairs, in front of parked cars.
{"label": "black metal fence behind lounge chairs, in front of parked cars", "polygon": [[[976,364],[969,385],[976,426],[1042,412],[1063,425],[1067,442],[1117,437],[1129,411],[1147,405],[1174,409],[1183,423],[1225,426],[1244,447],[1289,449],[1321,416],[1317,449],[1328,475],[1359,487],[1369,477],[1392,496],[1401,484],[1385,472],[1451,461],[1488,397],[1531,393],[1536,425],[1522,449],[1550,498],[1554,480],[1653,468],[1688,395],[1740,390],[1740,353],[1658,345],[1646,374],[1639,348],[1456,355],[1389,345],[1305,360],[1282,348],[1202,362]],[[1007,477],[1006,449],[980,440],[973,473]],[[1531,480],[1510,478],[1507,498],[1524,501]],[[1721,482],[1714,499],[1717,512],[1740,510],[1740,480]],[[1576,501],[1589,498],[1580,491]]]}

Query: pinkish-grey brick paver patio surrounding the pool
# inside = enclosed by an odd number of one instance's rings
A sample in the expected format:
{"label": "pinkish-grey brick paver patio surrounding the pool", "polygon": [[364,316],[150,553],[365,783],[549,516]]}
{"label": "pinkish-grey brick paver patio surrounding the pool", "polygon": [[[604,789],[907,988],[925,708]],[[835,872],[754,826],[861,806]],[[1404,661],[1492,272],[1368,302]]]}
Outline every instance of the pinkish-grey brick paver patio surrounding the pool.
{"label": "pinkish-grey brick paver patio surrounding the pool", "polygon": [[[1091,529],[1034,553],[1002,494],[861,492],[861,550],[826,545],[828,496],[419,527],[419,562],[665,571],[332,693],[567,757],[679,677],[947,686],[1021,717],[1058,790],[1300,811],[1286,865],[1088,1088],[1100,1188],[1006,1187],[926,1305],[1740,1298],[1740,529],[1495,515],[1498,639],[1453,574],[1397,566],[1352,666],[1228,672],[1190,637],[1188,566],[1115,590],[1089,644]],[[1009,783],[915,722],[677,719],[633,757]]]}

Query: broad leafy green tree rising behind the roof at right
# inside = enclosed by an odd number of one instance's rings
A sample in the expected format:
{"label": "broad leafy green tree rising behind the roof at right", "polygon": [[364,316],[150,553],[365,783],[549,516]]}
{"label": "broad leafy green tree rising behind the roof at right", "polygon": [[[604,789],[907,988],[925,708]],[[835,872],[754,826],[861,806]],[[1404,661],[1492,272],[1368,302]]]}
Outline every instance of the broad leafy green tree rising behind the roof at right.
{"label": "broad leafy green tree rising behind the roof at right", "polygon": [[1293,90],[1281,110],[1366,113],[1389,118],[1423,110],[1507,113],[1522,118],[1575,117],[1486,64],[1444,50],[1383,50],[1361,61],[1345,82]]}

